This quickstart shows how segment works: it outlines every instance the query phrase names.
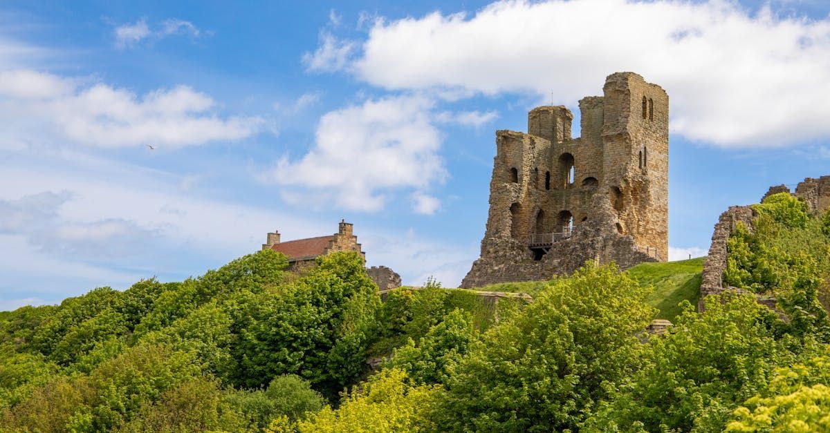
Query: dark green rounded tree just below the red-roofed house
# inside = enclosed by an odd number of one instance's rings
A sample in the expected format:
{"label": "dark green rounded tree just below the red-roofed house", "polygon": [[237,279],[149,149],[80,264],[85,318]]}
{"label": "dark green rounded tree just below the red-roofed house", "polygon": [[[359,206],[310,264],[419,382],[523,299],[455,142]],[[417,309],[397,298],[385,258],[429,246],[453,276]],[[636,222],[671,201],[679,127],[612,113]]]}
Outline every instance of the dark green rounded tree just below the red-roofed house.
{"label": "dark green rounded tree just below the red-roofed house", "polygon": [[261,387],[294,373],[335,395],[364,370],[379,304],[359,254],[319,257],[294,284],[263,291],[235,309],[237,383]]}

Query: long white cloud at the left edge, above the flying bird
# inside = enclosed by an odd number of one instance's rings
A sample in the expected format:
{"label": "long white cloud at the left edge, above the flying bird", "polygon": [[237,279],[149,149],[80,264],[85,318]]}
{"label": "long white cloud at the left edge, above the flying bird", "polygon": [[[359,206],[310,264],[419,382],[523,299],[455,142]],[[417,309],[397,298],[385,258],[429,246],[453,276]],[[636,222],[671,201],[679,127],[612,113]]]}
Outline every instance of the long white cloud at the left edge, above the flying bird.
{"label": "long white cloud at the left edge, above the flying bird", "polygon": [[264,124],[256,116],[223,118],[216,105],[187,86],[138,96],[44,72],[0,71],[0,148],[66,140],[105,148],[181,147],[245,139]]}

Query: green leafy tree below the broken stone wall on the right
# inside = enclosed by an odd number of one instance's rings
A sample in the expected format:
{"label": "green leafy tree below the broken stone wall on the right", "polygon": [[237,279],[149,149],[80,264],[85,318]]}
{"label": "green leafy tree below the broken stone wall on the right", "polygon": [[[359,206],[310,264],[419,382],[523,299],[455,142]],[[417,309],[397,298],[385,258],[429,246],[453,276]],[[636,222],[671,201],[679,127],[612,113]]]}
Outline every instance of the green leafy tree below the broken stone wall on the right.
{"label": "green leafy tree below the broken stone wall on the right", "polygon": [[651,339],[651,362],[586,430],[721,431],[731,411],[793,359],[770,329],[778,319],[754,296],[710,296],[703,314],[686,304],[671,331]]}

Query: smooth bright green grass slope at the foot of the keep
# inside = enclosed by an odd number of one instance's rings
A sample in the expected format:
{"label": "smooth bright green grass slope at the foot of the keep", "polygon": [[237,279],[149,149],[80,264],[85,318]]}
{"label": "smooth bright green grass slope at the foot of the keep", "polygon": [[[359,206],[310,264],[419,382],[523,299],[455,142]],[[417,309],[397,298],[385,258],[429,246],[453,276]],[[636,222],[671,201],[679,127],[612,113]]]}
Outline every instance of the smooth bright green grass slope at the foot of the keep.
{"label": "smooth bright green grass slope at the foot of the keep", "polygon": [[[655,319],[674,320],[680,314],[678,304],[688,300],[697,304],[701,298],[701,275],[703,257],[691,260],[679,260],[660,263],[641,263],[626,270],[640,285],[652,287],[646,303],[660,310]],[[500,283],[477,287],[475,290],[493,292],[520,292],[535,296],[540,294],[548,281],[522,281],[517,283]]]}

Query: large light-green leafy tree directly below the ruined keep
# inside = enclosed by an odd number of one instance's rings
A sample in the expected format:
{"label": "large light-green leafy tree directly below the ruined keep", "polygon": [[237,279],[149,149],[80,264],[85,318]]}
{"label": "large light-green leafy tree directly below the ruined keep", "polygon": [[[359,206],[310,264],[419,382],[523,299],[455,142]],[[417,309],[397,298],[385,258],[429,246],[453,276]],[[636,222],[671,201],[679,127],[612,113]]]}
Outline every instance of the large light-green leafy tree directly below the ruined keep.
{"label": "large light-green leafy tree directly below the ruined keep", "polygon": [[442,393],[442,429],[560,431],[627,381],[655,309],[613,265],[554,280],[515,318],[474,345]]}

